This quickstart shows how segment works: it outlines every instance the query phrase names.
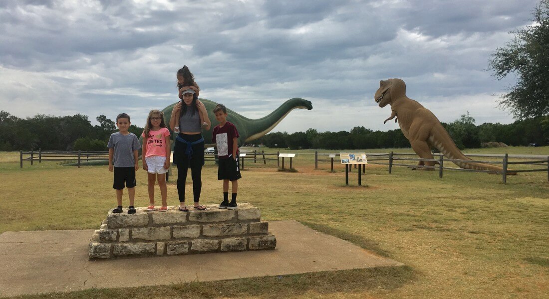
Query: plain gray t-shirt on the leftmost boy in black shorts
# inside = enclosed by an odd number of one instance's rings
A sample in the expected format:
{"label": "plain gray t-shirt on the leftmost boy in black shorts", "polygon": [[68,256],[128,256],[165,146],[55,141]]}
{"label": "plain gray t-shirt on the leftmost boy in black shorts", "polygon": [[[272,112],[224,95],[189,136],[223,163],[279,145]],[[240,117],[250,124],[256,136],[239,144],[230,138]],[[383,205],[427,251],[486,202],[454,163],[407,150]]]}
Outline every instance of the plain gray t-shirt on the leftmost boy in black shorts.
{"label": "plain gray t-shirt on the leftmost boy in black shorts", "polygon": [[137,136],[133,133],[122,135],[116,132],[110,135],[108,148],[114,148],[114,167],[133,167],[136,165],[133,159],[133,151],[141,149]]}

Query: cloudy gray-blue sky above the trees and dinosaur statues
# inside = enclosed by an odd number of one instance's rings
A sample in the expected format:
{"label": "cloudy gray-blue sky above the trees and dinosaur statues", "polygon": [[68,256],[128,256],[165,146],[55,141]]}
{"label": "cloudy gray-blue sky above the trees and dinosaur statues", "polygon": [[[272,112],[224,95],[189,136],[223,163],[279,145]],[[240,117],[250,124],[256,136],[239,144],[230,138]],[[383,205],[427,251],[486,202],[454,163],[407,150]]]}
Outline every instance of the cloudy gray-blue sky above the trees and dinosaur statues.
{"label": "cloudy gray-blue sky above the trees and dinosaur statues", "polygon": [[514,78],[497,81],[490,55],[530,24],[534,0],[2,0],[0,110],[115,119],[144,126],[177,101],[176,71],[200,97],[252,119],[285,100],[310,100],[273,130],[386,131],[373,94],[402,78],[408,97],[443,122],[497,108]]}

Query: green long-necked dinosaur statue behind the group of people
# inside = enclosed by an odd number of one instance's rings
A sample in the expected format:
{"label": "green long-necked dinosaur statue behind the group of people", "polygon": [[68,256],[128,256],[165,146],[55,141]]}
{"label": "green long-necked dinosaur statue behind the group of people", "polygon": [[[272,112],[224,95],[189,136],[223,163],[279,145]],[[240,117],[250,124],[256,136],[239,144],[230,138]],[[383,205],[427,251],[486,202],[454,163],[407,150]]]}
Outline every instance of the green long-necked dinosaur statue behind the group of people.
{"label": "green long-necked dinosaur statue behind the group of people", "polygon": [[[207,100],[207,99],[200,99],[202,103],[206,106],[206,110],[208,110],[208,116],[210,117],[210,121],[212,122],[212,128],[213,126],[217,125],[214,112],[212,112],[215,108],[215,101]],[[171,111],[173,109],[173,105],[177,104],[173,103],[166,108],[162,110],[164,112],[164,121],[166,123],[169,123],[170,117],[171,117]],[[226,106],[231,106],[231,103],[224,103]],[[231,109],[227,109],[227,120],[234,123],[234,125],[238,129],[238,134],[240,137],[238,138],[238,145],[242,146],[244,143],[247,143],[249,141],[258,139],[262,136],[265,136],[268,132],[270,132],[276,125],[278,125],[279,122],[281,122],[286,115],[290,113],[290,111],[294,109],[312,109],[311,101],[304,100],[301,98],[293,98],[285,101],[282,105],[280,105],[275,111],[271,112],[271,114],[261,117],[261,119],[248,119],[248,117],[244,117],[237,112],[234,112]],[[204,131],[204,140],[206,142],[206,145],[211,142],[211,133],[212,129],[209,131]],[[172,132],[173,134],[173,132]],[[141,142],[141,138],[139,137],[139,142]],[[172,138],[173,139],[173,138]],[[175,143],[172,142],[172,149],[173,145]],[[89,161],[89,162],[81,162],[81,165],[107,165],[108,160],[97,160],[97,161]],[[70,163],[66,164],[67,166],[74,166],[77,165],[77,163]]]}

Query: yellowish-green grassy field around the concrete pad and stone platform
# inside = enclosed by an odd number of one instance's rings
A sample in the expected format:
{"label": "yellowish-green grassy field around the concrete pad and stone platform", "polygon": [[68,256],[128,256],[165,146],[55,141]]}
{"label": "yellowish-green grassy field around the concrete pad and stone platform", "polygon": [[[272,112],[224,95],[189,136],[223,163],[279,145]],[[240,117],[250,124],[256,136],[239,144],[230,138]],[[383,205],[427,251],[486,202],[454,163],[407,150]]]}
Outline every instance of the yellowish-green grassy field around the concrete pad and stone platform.
{"label": "yellowish-green grassy field around the concrete pad and stone platform", "polygon": [[[393,149],[399,153],[406,150]],[[272,150],[268,150],[272,151]],[[389,150],[373,150],[382,152]],[[410,151],[410,150],[408,150]],[[295,152],[295,151],[290,151]],[[326,152],[326,151],[324,151]],[[405,263],[406,267],[309,273],[213,283],[94,289],[24,298],[545,298],[549,294],[547,172],[509,177],[485,173],[411,171],[368,165],[357,186],[344,167],[314,169],[314,150],[297,151],[298,172],[247,160],[239,201],[267,221],[295,219],[318,231]],[[466,153],[548,155],[544,148]],[[221,200],[216,166],[203,170],[202,203]],[[19,153],[0,153],[0,233],[98,228],[115,205],[106,166],[42,162],[19,168]],[[190,180],[190,178],[188,178]],[[148,203],[146,173],[137,174],[136,206]],[[22,186],[28,188],[21,188]],[[187,190],[191,189],[189,185]],[[176,185],[168,184],[170,205]],[[127,205],[127,198],[124,199]],[[71,217],[66,217],[71,215]]]}

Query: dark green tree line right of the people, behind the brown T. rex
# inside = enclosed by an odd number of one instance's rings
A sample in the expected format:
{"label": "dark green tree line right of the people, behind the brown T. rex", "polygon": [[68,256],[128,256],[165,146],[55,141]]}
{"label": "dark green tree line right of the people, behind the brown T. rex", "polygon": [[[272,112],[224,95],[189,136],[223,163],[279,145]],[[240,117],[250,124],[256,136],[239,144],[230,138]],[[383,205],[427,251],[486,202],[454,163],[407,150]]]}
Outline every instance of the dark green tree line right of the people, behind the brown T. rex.
{"label": "dark green tree line right of the people, behind the brown T. rex", "polygon": [[[517,120],[508,125],[501,123],[483,123],[475,125],[473,117],[467,114],[451,123],[442,123],[457,147],[480,148],[481,143],[502,142],[507,145],[549,144],[549,116],[539,116],[530,119]],[[308,129],[306,132],[269,133],[256,144],[264,144],[270,148],[290,149],[380,149],[380,148],[410,148],[410,142],[400,129],[391,131],[373,131],[363,126],[354,127],[351,131],[318,132]]]}

